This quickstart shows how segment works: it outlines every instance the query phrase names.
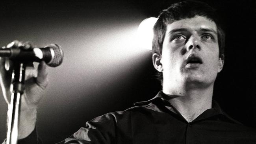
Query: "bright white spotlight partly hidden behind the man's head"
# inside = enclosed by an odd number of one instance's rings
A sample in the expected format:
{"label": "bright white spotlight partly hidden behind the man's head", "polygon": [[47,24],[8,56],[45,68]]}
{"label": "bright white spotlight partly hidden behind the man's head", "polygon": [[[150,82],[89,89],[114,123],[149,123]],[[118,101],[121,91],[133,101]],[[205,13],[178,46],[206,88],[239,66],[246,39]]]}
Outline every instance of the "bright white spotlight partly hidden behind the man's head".
{"label": "bright white spotlight partly hidden behind the man's head", "polygon": [[146,18],[139,24],[137,32],[137,44],[139,48],[152,50],[153,26],[158,18]]}

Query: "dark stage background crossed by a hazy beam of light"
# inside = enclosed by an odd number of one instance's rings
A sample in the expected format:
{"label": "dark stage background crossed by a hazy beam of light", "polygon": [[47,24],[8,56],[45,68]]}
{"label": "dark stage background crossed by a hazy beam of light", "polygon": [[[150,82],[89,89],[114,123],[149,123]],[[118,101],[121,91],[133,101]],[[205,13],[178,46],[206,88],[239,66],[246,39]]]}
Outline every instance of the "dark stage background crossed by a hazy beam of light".
{"label": "dark stage background crossed by a hazy beam of light", "polygon": [[[59,142],[96,116],[122,111],[161,90],[150,52],[138,50],[139,23],[178,0],[72,0],[2,2],[0,46],[18,39],[57,43],[64,62],[48,68],[50,84],[38,109],[45,144]],[[225,24],[225,65],[213,98],[230,116],[256,128],[255,1],[208,0]],[[0,96],[0,141],[7,104]]]}

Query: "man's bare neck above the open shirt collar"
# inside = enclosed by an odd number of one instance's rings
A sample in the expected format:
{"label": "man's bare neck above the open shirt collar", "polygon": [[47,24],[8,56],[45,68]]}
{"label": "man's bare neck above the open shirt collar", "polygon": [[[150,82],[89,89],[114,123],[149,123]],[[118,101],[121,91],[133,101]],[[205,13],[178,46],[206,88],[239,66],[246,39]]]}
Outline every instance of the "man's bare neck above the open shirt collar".
{"label": "man's bare neck above the open shirt collar", "polygon": [[163,87],[163,93],[167,95],[166,99],[182,114],[187,122],[191,122],[211,108],[213,85],[204,88],[176,86],[176,89],[166,89]]}

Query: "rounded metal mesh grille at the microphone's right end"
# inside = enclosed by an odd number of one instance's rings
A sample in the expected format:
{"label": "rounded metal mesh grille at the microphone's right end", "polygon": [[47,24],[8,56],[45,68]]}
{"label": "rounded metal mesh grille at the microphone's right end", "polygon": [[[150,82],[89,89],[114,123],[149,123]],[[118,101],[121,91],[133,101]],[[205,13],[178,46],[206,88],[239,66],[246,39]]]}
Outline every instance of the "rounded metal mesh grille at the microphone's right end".
{"label": "rounded metal mesh grille at the microphone's right end", "polygon": [[52,50],[54,51],[54,57],[52,59],[52,62],[48,63],[48,66],[56,67],[61,65],[63,61],[63,56],[64,56],[63,50],[61,49],[61,47],[57,44],[50,44],[47,47],[52,48]]}

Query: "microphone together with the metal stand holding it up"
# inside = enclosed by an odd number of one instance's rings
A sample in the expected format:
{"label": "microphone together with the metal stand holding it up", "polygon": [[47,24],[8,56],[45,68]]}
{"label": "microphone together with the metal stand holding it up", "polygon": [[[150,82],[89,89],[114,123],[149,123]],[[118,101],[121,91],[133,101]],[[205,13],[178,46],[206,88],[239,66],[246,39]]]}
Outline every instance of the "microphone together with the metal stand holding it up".
{"label": "microphone together with the metal stand holding it up", "polygon": [[30,45],[26,47],[25,44],[20,44],[19,46],[19,44],[17,45],[13,41],[7,46],[0,48],[0,57],[8,57],[14,62],[11,77],[11,101],[8,107],[9,122],[7,125],[6,143],[17,144],[21,95],[25,90],[26,64],[34,61],[45,61],[49,66],[59,66],[63,61],[63,51],[57,44],[50,44],[45,46],[45,48],[32,48]]}

